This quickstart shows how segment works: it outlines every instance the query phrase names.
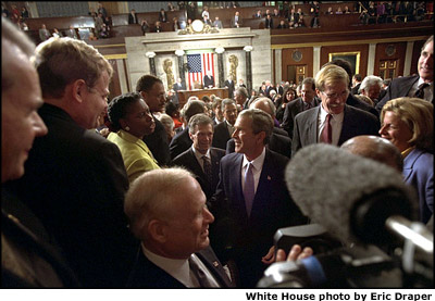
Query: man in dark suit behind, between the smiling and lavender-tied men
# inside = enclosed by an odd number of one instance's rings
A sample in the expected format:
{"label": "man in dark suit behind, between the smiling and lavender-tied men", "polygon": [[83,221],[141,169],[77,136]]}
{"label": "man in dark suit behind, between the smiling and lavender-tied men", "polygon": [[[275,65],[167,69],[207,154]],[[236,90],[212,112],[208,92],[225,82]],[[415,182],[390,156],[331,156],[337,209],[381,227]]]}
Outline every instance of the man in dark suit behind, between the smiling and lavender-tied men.
{"label": "man in dark suit behind, between the smiling and lavender-tied men", "polygon": [[231,139],[234,133],[234,123],[237,118],[236,102],[229,98],[222,101],[222,113],[225,121],[214,126],[212,147],[225,150],[226,142]]}

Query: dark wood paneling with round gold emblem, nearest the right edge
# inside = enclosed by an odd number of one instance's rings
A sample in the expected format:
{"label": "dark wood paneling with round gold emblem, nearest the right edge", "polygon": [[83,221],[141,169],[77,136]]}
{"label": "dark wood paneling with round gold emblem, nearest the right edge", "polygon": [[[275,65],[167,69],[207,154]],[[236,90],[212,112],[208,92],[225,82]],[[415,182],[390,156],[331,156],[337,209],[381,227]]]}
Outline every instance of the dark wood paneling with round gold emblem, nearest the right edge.
{"label": "dark wood paneling with round gold emblem, nearest the right edge", "polygon": [[[387,47],[395,47],[396,51],[391,55],[386,53]],[[397,61],[396,77],[403,75],[405,55],[407,52],[407,42],[380,42],[376,45],[376,54],[374,60],[374,75],[380,75],[380,61]],[[385,78],[384,78],[385,79]]]}

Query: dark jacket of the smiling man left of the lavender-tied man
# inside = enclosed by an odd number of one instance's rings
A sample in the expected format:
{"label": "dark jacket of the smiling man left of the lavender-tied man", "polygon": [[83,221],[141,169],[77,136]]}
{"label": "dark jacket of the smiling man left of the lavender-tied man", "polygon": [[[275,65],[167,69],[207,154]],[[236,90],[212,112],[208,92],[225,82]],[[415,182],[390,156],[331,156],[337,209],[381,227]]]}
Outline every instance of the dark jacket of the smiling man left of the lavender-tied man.
{"label": "dark jacket of the smiling man left of the lavender-tied man", "polygon": [[199,164],[191,148],[181,153],[172,161],[173,165],[184,166],[195,174],[196,179],[198,180],[199,185],[201,185],[202,191],[206,193],[208,200],[213,196],[214,191],[216,190],[219,181],[219,166],[222,156],[225,155],[225,151],[216,148],[211,148],[210,155],[212,183],[207,179],[206,174],[203,173],[201,165]]}

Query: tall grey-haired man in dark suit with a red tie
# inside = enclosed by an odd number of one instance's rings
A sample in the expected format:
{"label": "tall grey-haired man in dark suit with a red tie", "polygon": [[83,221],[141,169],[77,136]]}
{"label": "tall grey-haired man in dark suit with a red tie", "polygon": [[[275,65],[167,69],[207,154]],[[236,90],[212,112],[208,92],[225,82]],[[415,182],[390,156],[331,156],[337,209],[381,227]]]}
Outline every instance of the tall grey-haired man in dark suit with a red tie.
{"label": "tall grey-haired man in dark suit with a red tie", "polygon": [[291,154],[308,145],[325,142],[340,146],[359,135],[378,136],[380,122],[371,113],[346,104],[349,76],[328,64],[315,76],[315,92],[322,103],[295,117]]}

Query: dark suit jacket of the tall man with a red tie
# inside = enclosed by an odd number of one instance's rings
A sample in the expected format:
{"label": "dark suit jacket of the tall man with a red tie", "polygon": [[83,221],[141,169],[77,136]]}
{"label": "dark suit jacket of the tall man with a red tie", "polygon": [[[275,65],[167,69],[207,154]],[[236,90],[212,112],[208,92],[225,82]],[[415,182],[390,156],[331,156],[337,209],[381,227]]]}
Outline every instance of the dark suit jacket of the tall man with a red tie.
{"label": "dark suit jacket of the tall man with a red tie", "polygon": [[[291,140],[291,154],[309,145],[318,143],[318,116],[320,105],[295,117],[295,128]],[[371,113],[345,104],[345,116],[343,118],[341,134],[338,139],[338,146],[346,140],[359,135],[380,136],[380,121]]]}

